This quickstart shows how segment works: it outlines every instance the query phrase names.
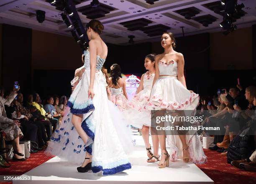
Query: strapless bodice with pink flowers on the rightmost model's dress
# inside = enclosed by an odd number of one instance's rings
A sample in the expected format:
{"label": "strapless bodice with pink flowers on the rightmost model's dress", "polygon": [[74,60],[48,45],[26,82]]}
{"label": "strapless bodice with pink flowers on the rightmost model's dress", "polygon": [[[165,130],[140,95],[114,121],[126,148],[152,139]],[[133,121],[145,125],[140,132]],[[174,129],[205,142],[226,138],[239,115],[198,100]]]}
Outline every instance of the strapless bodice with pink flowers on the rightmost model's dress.
{"label": "strapless bodice with pink flowers on the rightmost model's dress", "polygon": [[159,61],[159,75],[178,76],[178,64],[173,59],[171,61]]}

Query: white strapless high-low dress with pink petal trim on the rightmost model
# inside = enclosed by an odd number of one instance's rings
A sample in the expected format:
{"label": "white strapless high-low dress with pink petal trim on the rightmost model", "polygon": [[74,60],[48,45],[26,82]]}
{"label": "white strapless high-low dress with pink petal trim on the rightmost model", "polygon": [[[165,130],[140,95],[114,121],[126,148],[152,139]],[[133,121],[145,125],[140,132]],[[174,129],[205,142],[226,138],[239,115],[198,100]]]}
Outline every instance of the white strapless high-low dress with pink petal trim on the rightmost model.
{"label": "white strapless high-low dress with pink petal trim on the rightmost model", "polygon": [[[159,79],[152,87],[148,102],[150,110],[184,110],[185,115],[193,116],[199,101],[199,95],[183,86],[178,80],[177,61],[159,61]],[[167,143],[170,146],[170,160],[182,159],[182,142],[176,130],[166,132]],[[190,160],[197,164],[207,162],[207,157],[202,149],[200,138],[196,131],[189,130],[186,133],[189,146]]]}

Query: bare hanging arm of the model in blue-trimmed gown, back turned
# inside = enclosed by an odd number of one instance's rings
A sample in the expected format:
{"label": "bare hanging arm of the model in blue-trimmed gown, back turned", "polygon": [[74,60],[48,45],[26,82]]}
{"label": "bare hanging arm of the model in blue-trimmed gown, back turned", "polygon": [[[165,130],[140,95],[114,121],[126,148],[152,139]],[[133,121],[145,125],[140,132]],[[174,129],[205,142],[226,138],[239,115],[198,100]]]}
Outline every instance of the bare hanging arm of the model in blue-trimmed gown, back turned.
{"label": "bare hanging arm of the model in blue-trimmed gown, back turned", "polygon": [[90,85],[88,89],[88,98],[94,97],[93,87],[94,87],[94,79],[95,79],[95,69],[96,69],[96,57],[97,57],[97,47],[94,40],[89,42],[90,48]]}

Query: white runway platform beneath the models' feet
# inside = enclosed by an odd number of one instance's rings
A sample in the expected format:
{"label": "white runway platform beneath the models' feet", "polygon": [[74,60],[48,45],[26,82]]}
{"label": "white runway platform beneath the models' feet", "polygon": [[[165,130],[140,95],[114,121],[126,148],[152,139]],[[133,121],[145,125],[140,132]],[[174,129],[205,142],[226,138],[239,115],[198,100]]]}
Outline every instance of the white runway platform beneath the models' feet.
{"label": "white runway platform beneath the models' feet", "polygon": [[[24,175],[31,181],[13,181],[13,184],[213,184],[214,182],[195,164],[183,161],[170,162],[170,166],[159,169],[157,163],[147,163],[146,149],[142,136],[134,135],[136,149],[129,156],[132,169],[110,176],[101,173],[78,173],[77,166],[69,166],[54,157]],[[152,145],[152,144],[151,144]],[[168,150],[168,149],[167,149]],[[160,151],[160,150],[159,150]],[[160,152],[159,152],[160,153]]]}

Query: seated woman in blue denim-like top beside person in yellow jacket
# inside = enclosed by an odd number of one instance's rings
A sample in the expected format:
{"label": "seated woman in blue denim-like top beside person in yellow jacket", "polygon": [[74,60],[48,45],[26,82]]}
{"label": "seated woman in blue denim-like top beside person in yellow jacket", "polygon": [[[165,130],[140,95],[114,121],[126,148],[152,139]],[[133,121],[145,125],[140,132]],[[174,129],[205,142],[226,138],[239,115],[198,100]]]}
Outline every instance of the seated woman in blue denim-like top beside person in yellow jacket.
{"label": "seated woman in blue denim-like top beside person in yellow jacket", "polygon": [[52,118],[49,120],[53,125],[53,131],[54,131],[56,128],[58,128],[57,126],[59,126],[59,118],[61,117],[61,114],[59,114],[56,108],[53,106],[54,98],[52,96],[49,96],[46,100],[47,100],[47,104],[44,105],[44,110],[46,111],[46,113],[51,114],[52,116]]}

